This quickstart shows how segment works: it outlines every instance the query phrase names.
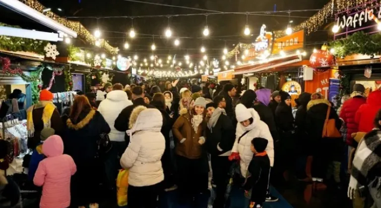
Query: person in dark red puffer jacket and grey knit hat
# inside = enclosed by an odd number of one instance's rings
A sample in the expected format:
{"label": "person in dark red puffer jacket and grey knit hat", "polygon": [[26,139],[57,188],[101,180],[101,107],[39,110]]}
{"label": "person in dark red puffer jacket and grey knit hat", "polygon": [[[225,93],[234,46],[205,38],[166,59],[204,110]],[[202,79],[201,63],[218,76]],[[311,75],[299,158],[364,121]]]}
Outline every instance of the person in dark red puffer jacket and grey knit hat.
{"label": "person in dark red puffer jacket and grey knit hat", "polygon": [[353,92],[351,93],[351,99],[342,105],[339,115],[347,127],[347,139],[345,142],[354,148],[356,148],[358,144],[351,135],[359,130],[359,125],[355,121],[355,115],[359,107],[367,102],[364,92],[365,87],[362,84],[355,84],[353,86]]}

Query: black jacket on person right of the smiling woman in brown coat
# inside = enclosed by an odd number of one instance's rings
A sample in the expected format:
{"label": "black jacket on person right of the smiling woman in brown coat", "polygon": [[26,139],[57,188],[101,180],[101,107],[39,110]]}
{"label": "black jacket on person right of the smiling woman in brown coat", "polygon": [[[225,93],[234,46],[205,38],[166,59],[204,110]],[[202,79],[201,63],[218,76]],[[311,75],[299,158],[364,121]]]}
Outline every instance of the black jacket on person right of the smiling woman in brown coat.
{"label": "black jacket on person right of the smiling woman in brown coat", "polygon": [[[221,155],[232,150],[235,137],[235,127],[230,118],[221,114],[217,123],[211,129],[206,128],[206,146],[211,155]],[[217,149],[217,145],[223,151]]]}

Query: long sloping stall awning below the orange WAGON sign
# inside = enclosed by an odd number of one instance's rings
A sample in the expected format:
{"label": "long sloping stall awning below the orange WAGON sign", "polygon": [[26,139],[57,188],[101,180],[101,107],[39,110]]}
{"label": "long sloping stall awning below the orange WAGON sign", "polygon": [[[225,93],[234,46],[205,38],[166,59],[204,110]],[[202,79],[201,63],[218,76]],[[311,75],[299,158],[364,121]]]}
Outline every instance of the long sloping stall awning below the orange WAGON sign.
{"label": "long sloping stall awning below the orange WAGON sign", "polygon": [[234,74],[246,74],[246,73],[263,73],[266,70],[273,70],[277,67],[284,67],[288,64],[301,62],[302,55],[290,55],[284,58],[272,60],[272,61],[260,61],[253,64],[247,64],[234,69]]}

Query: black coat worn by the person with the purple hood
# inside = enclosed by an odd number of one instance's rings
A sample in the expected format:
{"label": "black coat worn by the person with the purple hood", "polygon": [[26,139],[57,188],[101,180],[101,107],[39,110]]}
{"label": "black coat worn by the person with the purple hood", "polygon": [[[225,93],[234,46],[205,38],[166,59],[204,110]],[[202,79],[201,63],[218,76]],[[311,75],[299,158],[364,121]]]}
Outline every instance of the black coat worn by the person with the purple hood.
{"label": "black coat worn by the person with the purple hood", "polygon": [[272,114],[271,108],[262,103],[254,104],[253,108],[256,112],[258,112],[260,120],[267,124],[274,142],[278,141],[279,135],[276,130],[274,115]]}

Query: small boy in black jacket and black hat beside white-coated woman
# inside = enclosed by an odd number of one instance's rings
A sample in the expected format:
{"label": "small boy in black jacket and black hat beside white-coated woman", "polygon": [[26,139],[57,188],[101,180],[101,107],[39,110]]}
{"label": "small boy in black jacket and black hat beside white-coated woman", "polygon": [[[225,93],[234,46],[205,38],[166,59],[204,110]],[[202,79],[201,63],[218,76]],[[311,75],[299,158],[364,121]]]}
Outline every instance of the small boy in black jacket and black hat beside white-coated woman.
{"label": "small boy in black jacket and black hat beside white-coated woman", "polygon": [[267,181],[270,171],[270,159],[265,151],[267,140],[264,138],[254,138],[251,150],[254,153],[253,159],[249,164],[248,177],[244,185],[245,193],[249,196],[250,208],[261,208],[266,200]]}

